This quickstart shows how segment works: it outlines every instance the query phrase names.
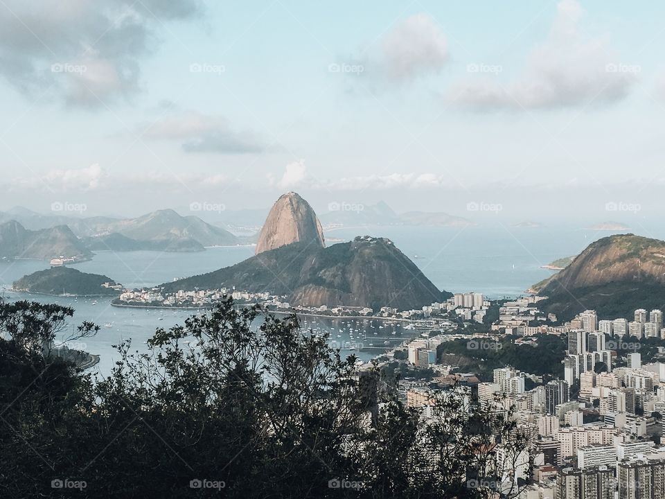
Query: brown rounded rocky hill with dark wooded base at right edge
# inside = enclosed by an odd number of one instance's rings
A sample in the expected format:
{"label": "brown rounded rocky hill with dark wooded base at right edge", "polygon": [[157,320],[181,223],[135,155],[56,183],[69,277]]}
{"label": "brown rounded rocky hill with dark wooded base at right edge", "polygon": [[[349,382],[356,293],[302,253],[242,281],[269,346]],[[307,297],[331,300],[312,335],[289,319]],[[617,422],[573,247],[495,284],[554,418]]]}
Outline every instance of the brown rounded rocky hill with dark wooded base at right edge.
{"label": "brown rounded rocky hill with dark wooded base at right edge", "polygon": [[533,286],[544,308],[566,319],[586,309],[603,318],[665,306],[665,241],[633,234],[596,240],[563,270]]}

